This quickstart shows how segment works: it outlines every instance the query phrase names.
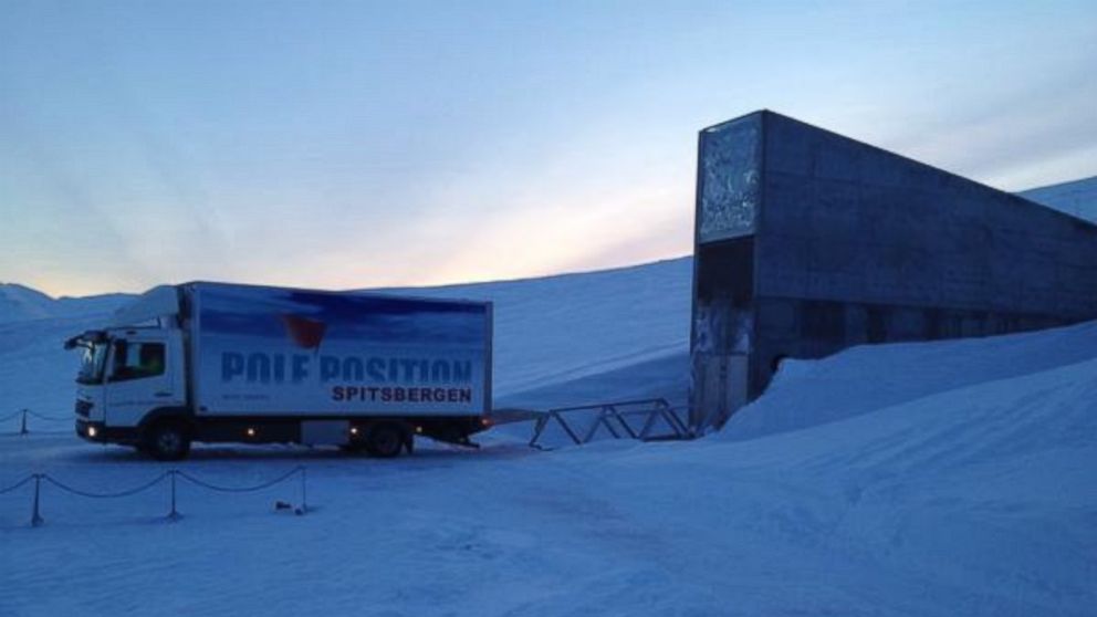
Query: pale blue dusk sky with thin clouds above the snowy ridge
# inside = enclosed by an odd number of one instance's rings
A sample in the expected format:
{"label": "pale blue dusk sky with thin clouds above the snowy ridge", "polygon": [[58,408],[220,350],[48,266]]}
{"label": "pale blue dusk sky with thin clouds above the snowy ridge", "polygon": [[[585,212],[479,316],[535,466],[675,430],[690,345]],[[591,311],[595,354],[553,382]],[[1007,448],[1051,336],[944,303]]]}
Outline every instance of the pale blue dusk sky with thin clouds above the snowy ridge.
{"label": "pale blue dusk sky with thin clouds above the snowy ridge", "polygon": [[1097,175],[1097,2],[0,1],[0,282],[435,284],[691,250],[771,108],[1007,190]]}

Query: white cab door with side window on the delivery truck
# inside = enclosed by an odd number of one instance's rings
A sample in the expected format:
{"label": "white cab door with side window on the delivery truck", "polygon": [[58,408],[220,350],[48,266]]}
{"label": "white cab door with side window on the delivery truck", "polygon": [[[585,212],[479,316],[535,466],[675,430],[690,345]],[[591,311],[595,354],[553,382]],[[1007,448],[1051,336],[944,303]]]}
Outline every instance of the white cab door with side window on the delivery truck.
{"label": "white cab door with side window on the delivery truck", "polygon": [[112,427],[137,426],[158,407],[181,407],[176,374],[182,368],[178,342],[157,334],[116,338],[111,343],[106,378],[106,418]]}

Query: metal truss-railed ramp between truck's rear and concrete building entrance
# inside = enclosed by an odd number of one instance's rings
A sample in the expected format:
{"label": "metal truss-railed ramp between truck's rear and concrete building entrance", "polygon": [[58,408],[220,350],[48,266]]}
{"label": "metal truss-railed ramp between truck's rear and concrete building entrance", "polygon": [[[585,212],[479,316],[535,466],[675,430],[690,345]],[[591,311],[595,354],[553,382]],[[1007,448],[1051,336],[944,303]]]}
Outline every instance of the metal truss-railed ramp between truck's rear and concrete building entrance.
{"label": "metal truss-railed ramp between truck's rear and concrete building entrance", "polygon": [[603,439],[667,441],[688,439],[685,407],[664,398],[599,402],[550,409],[537,415],[530,446],[552,450]]}

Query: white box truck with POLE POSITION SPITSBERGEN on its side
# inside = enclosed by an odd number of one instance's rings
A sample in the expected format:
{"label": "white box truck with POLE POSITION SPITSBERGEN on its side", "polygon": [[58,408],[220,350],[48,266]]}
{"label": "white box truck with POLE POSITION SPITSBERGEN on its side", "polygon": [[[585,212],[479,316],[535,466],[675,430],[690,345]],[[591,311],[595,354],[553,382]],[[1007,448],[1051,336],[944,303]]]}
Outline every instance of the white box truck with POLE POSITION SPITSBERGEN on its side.
{"label": "white box truck with POLE POSITION SPITSBERGEN on its side", "polygon": [[76,433],[160,460],[192,441],[472,446],[490,423],[492,305],[187,283],[149,290],[83,351]]}

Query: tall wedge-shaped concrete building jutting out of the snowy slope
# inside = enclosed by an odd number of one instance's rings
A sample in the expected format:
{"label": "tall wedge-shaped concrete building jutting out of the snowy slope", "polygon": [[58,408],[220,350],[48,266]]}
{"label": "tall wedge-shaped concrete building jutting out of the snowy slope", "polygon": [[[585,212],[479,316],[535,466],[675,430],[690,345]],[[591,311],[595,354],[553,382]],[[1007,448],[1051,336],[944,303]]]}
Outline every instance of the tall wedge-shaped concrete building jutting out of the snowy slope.
{"label": "tall wedge-shaped concrete building jutting out of the snowy slope", "polygon": [[798,121],[700,133],[694,428],[784,357],[1097,318],[1097,226]]}

